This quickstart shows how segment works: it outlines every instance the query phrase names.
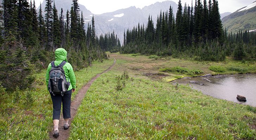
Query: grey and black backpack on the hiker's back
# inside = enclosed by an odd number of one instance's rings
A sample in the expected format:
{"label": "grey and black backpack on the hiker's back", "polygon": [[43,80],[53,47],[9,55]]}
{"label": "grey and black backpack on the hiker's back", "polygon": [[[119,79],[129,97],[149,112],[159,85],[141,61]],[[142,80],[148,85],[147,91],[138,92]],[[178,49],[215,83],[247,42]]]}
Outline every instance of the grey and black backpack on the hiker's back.
{"label": "grey and black backpack on the hiker's back", "polygon": [[51,62],[52,68],[49,72],[48,90],[53,96],[55,96],[55,94],[61,94],[61,96],[63,96],[69,89],[70,82],[67,82],[63,69],[66,63],[67,62],[63,61],[58,66],[55,66],[54,61]]}

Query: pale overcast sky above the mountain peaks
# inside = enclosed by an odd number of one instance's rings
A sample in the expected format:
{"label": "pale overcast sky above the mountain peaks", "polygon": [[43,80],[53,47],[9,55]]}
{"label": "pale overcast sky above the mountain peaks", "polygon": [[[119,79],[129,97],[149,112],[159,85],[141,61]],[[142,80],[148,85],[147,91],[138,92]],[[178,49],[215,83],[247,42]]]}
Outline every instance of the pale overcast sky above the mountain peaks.
{"label": "pale overcast sky above the mountain peaks", "polygon": [[[36,5],[40,5],[40,1],[35,0]],[[143,8],[144,6],[149,6],[155,2],[162,2],[166,0],[78,0],[78,3],[84,5],[93,14],[102,14],[107,12],[113,12],[118,9],[128,8],[130,6],[136,6],[137,8]],[[178,3],[179,0],[172,0]],[[193,5],[194,5],[193,0]],[[208,0],[207,0],[208,1]],[[220,13],[225,12],[235,12],[244,6],[249,5],[255,0],[218,0]],[[191,0],[181,0],[182,6],[185,2],[191,5]]]}

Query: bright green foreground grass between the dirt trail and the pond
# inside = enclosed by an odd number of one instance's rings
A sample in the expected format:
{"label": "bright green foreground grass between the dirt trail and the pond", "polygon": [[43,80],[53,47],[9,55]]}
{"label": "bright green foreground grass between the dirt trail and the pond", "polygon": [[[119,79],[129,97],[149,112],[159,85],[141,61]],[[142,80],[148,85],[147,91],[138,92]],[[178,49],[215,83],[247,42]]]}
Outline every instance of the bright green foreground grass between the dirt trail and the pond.
{"label": "bright green foreground grass between the dirt trail and the pond", "polygon": [[255,107],[143,78],[131,69],[126,86],[117,91],[115,76],[127,65],[127,60],[117,59],[115,68],[92,84],[73,120],[70,140],[256,139]]}

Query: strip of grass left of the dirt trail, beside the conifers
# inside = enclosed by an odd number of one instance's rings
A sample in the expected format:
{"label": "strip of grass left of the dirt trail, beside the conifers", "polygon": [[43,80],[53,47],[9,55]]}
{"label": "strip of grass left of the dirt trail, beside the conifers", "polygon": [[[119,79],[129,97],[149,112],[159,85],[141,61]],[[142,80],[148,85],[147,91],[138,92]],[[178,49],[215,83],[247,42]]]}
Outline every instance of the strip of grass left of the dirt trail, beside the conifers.
{"label": "strip of grass left of the dirt trail, beside the conifers", "polygon": [[[72,98],[92,77],[112,64],[113,59],[109,59],[103,63],[94,62],[92,67],[76,71],[77,89]],[[1,95],[0,139],[49,139],[49,130],[52,127],[52,101],[45,85],[45,71],[36,75],[36,81],[31,89],[15,92],[19,94],[18,102],[14,102],[14,93]],[[32,104],[27,102],[26,92],[31,93],[34,100]]]}

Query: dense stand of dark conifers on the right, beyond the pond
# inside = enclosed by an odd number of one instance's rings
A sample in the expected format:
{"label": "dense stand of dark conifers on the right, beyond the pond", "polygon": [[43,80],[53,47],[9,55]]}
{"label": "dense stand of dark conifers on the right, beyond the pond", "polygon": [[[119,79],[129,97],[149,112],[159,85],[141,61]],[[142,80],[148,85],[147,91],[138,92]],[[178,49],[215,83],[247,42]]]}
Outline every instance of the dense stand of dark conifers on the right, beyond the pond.
{"label": "dense stand of dark conifers on the right, beyond the pond", "polygon": [[146,27],[135,26],[124,31],[121,53],[141,53],[203,61],[223,61],[226,56],[236,60],[256,59],[256,33],[227,33],[220,20],[217,0],[196,1],[195,6],[178,3],[176,16],[172,6],[160,12],[156,25],[148,17]]}

